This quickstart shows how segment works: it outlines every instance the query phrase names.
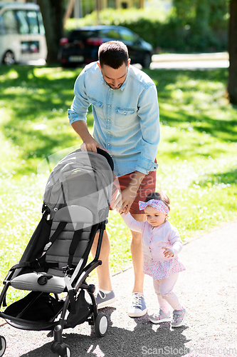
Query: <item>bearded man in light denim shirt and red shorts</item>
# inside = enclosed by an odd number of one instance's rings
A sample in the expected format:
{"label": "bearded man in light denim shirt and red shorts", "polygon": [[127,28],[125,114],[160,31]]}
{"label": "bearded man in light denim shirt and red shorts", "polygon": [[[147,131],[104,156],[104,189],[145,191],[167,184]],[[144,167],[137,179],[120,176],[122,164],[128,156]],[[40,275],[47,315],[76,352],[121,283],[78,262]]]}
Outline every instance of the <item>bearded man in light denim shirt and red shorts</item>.
{"label": "bearded man in light denim shirt and red shorts", "polygon": [[[110,41],[99,48],[99,61],[85,66],[75,81],[75,97],[68,110],[73,129],[83,140],[83,151],[106,150],[115,164],[114,174],[120,181],[121,194],[113,208],[144,221],[138,201],[155,191],[154,162],[159,144],[159,107],[157,90],[152,79],[130,66],[127,46],[120,41]],[[92,105],[94,116],[93,136],[88,131],[86,114]],[[142,214],[141,214],[142,213]],[[98,238],[98,237],[96,237]],[[93,253],[97,239],[93,245]],[[147,306],[143,296],[143,256],[140,233],[132,231],[132,263],[135,285],[131,317],[143,316]],[[109,271],[110,241],[107,233],[102,239],[98,268],[98,308],[115,301]]]}

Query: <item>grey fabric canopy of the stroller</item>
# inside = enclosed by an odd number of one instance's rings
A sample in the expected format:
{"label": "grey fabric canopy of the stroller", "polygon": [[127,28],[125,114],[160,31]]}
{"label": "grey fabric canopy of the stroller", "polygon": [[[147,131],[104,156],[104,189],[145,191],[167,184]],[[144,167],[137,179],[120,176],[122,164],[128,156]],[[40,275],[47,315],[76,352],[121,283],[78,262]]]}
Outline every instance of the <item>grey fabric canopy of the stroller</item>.
{"label": "grey fabric canopy of the stroller", "polygon": [[98,152],[101,154],[75,150],[55,166],[43,195],[51,218],[65,206],[90,209],[93,223],[107,217],[112,194],[112,159],[105,151]]}

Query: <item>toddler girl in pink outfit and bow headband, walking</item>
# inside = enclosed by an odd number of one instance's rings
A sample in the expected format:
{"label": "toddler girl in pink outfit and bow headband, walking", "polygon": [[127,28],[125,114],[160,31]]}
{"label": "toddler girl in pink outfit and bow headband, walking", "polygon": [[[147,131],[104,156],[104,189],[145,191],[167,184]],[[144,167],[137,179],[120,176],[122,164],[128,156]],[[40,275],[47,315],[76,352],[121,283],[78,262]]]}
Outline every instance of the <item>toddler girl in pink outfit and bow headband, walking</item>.
{"label": "toddler girl in pink outfit and bow headband, walking", "polygon": [[[184,324],[186,309],[173,292],[180,271],[184,265],[177,254],[183,243],[177,228],[167,220],[169,198],[164,193],[150,193],[144,202],[139,201],[139,209],[144,210],[147,221],[136,221],[130,213],[121,216],[132,231],[142,233],[144,273],[152,276],[154,291],[157,293],[159,313],[149,316],[152,323],[172,321],[172,327]],[[169,311],[173,308],[173,318]]]}

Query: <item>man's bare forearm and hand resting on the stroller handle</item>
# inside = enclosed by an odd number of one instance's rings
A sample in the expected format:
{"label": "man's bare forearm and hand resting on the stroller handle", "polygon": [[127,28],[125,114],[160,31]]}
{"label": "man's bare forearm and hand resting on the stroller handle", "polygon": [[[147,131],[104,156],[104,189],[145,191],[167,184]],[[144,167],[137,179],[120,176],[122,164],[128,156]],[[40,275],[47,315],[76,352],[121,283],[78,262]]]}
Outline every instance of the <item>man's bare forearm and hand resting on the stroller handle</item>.
{"label": "man's bare forearm and hand resting on the stroller handle", "polygon": [[80,139],[83,141],[83,144],[80,146],[82,151],[93,151],[94,153],[97,153],[97,148],[103,149],[102,146],[95,141],[93,136],[90,135],[88,125],[85,121],[74,121],[72,126],[75,132],[80,136]]}

